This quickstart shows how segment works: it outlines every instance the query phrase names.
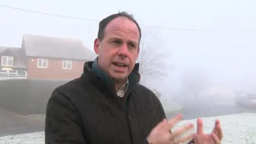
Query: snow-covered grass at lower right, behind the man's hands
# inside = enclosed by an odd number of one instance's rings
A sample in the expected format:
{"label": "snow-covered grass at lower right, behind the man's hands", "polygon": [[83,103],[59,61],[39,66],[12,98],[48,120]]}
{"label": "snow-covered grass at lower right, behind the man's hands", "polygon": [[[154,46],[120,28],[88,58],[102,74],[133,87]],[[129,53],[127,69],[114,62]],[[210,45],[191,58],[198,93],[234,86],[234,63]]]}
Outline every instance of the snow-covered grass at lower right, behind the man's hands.
{"label": "snow-covered grass at lower right, behind the man's hands", "polygon": [[[222,126],[223,140],[221,143],[256,143],[256,114],[243,113],[202,118],[205,133],[212,132],[215,119],[219,119]],[[196,119],[182,121],[177,124],[177,127],[185,123],[193,123],[196,128]]]}

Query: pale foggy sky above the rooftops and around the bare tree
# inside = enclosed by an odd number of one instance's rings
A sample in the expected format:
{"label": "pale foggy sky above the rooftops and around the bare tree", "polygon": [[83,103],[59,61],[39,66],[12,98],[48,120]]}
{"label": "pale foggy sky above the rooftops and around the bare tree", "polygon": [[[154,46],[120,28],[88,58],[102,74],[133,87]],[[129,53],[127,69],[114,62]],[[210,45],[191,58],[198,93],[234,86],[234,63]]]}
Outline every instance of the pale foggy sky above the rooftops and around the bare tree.
{"label": "pale foggy sky above the rooftops and around the bare tree", "polygon": [[[169,60],[175,67],[158,86],[168,93],[180,85],[186,70],[206,71],[213,84],[256,86],[256,1],[71,1],[71,0],[0,0],[0,5],[31,11],[101,20],[118,10],[134,14],[141,26],[180,29],[253,31],[204,32],[154,29],[164,39]],[[7,9],[0,6],[0,46],[19,47],[23,34],[82,39],[93,51],[98,22],[53,17]],[[153,28],[152,28],[153,29]],[[143,31],[150,28],[142,27]],[[157,49],[157,47],[156,47]],[[222,50],[227,51],[219,52]],[[219,53],[214,53],[219,52]],[[187,72],[186,72],[187,73]]]}

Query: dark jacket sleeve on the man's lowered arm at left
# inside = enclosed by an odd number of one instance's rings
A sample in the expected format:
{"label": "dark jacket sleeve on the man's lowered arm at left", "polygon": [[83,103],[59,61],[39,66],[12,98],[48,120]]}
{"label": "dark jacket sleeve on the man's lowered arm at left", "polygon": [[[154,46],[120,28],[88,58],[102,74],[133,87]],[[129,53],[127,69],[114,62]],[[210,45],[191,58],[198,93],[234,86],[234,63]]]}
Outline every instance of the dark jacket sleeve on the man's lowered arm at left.
{"label": "dark jacket sleeve on the man's lowered arm at left", "polygon": [[45,144],[85,144],[81,125],[75,106],[55,89],[46,107]]}

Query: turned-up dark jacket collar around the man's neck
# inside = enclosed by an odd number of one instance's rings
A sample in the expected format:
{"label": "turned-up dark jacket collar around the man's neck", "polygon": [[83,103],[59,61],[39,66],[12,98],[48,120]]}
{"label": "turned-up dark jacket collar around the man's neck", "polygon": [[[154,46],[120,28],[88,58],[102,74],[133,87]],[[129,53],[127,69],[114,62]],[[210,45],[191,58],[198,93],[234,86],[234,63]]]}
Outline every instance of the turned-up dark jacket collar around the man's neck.
{"label": "turned-up dark jacket collar around the man's neck", "polygon": [[[133,90],[134,86],[140,82],[140,74],[138,71],[139,63],[135,63],[135,66],[128,77],[129,86],[126,95],[129,94]],[[98,63],[98,57],[94,61],[85,62],[84,72],[89,72],[93,76],[100,78],[101,82],[103,82],[105,86],[115,91],[115,80],[110,76],[110,74],[106,70],[100,67]]]}

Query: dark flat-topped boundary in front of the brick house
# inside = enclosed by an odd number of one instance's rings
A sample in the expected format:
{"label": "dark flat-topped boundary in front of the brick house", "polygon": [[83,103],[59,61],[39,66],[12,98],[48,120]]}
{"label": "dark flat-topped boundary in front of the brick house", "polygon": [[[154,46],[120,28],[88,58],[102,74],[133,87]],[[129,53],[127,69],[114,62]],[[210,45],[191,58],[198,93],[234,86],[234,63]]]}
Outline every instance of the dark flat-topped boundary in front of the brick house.
{"label": "dark flat-topped boundary in front of the brick house", "polygon": [[0,81],[0,107],[23,115],[44,114],[53,90],[68,81],[52,79]]}

